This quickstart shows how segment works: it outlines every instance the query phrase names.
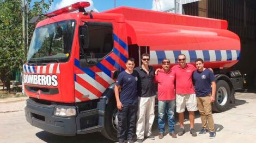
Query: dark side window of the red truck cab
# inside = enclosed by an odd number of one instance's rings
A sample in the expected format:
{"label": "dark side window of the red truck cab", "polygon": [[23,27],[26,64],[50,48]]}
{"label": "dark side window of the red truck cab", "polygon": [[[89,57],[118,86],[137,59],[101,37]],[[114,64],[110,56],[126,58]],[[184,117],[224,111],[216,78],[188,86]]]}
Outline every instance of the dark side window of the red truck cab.
{"label": "dark side window of the red truck cab", "polygon": [[87,66],[93,66],[113,50],[113,28],[105,25],[87,25],[84,28],[86,30],[80,30],[80,60],[85,59]]}

